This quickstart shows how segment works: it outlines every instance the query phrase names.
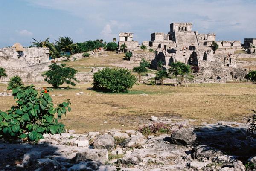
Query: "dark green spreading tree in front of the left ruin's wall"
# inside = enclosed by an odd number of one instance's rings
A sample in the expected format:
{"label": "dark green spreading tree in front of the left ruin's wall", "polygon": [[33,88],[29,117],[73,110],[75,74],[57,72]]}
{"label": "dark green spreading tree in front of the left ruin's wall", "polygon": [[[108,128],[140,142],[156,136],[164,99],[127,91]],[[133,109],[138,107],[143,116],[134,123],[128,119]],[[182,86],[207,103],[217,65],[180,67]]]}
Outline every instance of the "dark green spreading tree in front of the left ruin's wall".
{"label": "dark green spreading tree in front of the left ruin's wall", "polygon": [[44,81],[52,84],[54,88],[58,88],[64,83],[76,86],[73,81],[78,82],[75,78],[77,70],[65,66],[65,64],[57,65],[56,63],[49,65],[49,70],[42,75],[46,77]]}

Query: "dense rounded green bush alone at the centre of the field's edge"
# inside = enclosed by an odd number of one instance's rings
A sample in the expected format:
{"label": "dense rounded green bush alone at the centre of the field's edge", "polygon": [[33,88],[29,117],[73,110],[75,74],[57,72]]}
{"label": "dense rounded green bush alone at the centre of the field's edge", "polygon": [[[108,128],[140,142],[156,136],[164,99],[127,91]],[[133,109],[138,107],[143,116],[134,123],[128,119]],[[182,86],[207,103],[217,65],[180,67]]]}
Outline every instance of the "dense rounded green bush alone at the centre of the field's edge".
{"label": "dense rounded green bush alone at the centre of the field's edge", "polygon": [[136,83],[136,77],[130,70],[104,68],[93,75],[93,88],[108,92],[125,92]]}

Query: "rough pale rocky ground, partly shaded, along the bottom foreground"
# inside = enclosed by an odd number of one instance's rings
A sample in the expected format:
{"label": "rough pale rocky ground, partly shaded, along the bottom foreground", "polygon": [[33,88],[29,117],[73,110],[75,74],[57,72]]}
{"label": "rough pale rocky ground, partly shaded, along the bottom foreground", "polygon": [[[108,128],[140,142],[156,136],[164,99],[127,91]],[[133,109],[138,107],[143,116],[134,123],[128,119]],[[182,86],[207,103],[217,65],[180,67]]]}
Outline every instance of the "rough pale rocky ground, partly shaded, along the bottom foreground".
{"label": "rough pale rocky ground, partly shaded, along the bottom foreground", "polygon": [[[38,144],[0,141],[0,171],[255,171],[256,138],[247,124],[218,122],[194,128],[162,118],[171,133],[135,130],[49,135]],[[253,165],[254,164],[254,165]]]}

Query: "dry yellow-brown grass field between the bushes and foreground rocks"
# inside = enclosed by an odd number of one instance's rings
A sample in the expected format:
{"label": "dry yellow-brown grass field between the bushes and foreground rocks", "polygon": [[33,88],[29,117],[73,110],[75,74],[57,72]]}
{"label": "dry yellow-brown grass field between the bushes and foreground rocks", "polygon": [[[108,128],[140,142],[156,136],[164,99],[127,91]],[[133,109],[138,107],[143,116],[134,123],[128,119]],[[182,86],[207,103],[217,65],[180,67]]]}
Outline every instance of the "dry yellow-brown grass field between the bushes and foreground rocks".
{"label": "dry yellow-brown grass field between the bushes and foreground rocks", "polygon": [[[35,83],[36,87],[49,86]],[[256,87],[250,83],[188,84],[188,87],[140,84],[128,93],[101,93],[79,83],[72,89],[50,92],[54,103],[72,102],[72,111],[62,119],[67,129],[84,133],[110,128],[136,129],[151,116],[196,119],[193,124],[219,120],[245,122],[256,109]],[[0,92],[6,89],[0,84]],[[76,96],[78,92],[84,94]],[[0,109],[15,104],[12,96],[0,96]],[[108,123],[103,123],[107,121]]]}

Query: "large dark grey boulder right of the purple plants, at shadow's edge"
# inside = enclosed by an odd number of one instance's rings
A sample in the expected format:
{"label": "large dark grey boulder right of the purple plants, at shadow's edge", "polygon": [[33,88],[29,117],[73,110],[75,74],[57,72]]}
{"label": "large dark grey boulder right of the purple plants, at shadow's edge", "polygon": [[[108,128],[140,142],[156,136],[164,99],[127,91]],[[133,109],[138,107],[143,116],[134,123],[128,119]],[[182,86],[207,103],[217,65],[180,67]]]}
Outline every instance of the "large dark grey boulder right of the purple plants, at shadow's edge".
{"label": "large dark grey boulder right of the purple plants, at shadow's edge", "polygon": [[172,142],[178,145],[189,145],[195,142],[196,134],[193,128],[180,129],[172,133]]}

